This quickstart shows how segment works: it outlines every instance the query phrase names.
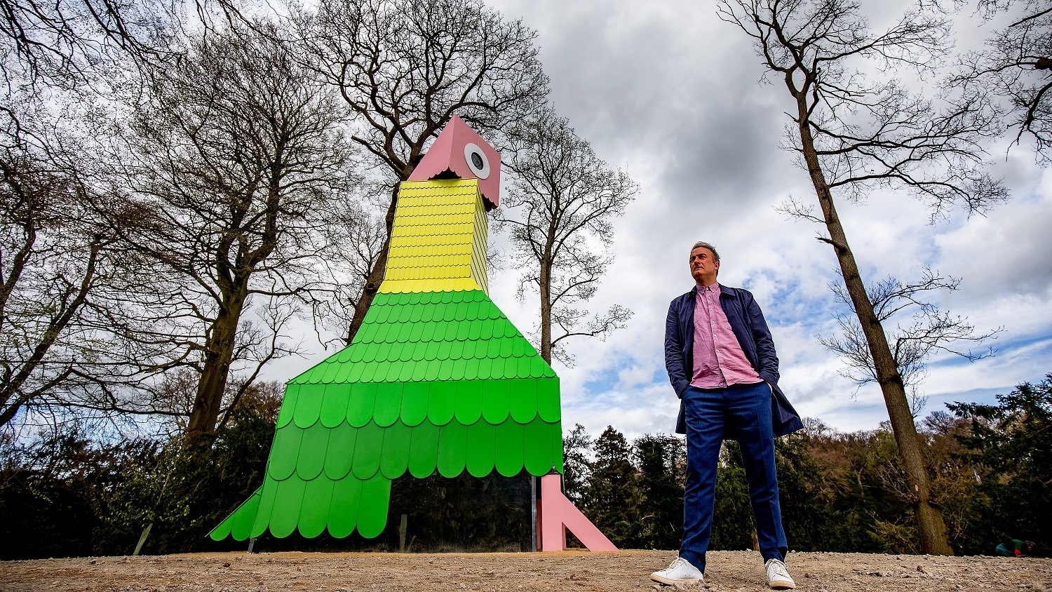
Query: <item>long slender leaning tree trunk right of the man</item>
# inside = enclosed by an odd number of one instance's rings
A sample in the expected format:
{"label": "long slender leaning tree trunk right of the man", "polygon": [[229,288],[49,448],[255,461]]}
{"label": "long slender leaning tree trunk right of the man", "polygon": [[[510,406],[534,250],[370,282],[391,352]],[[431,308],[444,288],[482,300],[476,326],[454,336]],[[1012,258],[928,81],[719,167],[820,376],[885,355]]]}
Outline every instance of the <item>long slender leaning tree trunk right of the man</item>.
{"label": "long slender leaning tree trunk right of the man", "polygon": [[836,252],[845,287],[851,297],[851,304],[858,317],[863,333],[866,335],[866,342],[873,356],[876,382],[881,385],[881,391],[884,393],[888,416],[891,419],[891,429],[894,432],[898,454],[906,470],[906,482],[910,490],[910,501],[913,504],[917,532],[920,537],[920,550],[932,555],[952,555],[953,549],[947,542],[943,514],[931,503],[924,450],[917,435],[916,425],[913,423],[909,402],[906,399],[903,377],[898,373],[898,367],[891,354],[891,348],[888,346],[884,327],[873,311],[873,304],[866,293],[866,285],[858,273],[858,265],[855,263],[854,254],[848,245],[844,226],[841,224],[833,205],[832,192],[818,163],[814,138],[811,136],[808,123],[807,96],[804,93],[794,93],[794,96],[797,101],[797,122],[804,160],[807,163],[808,172],[811,175],[811,182],[814,184],[826,228],[829,231],[829,239],[823,240],[831,244]]}

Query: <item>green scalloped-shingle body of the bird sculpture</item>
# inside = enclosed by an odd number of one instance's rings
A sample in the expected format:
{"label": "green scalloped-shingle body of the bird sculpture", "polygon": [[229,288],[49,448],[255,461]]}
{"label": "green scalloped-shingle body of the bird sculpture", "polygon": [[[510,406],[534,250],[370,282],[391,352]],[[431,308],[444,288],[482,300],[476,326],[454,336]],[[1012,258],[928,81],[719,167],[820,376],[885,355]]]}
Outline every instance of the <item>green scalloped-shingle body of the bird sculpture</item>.
{"label": "green scalloped-shingle body of the bird sculpture", "polygon": [[481,290],[379,293],[290,381],[264,484],[210,534],[377,536],[391,479],[563,469],[559,379]]}

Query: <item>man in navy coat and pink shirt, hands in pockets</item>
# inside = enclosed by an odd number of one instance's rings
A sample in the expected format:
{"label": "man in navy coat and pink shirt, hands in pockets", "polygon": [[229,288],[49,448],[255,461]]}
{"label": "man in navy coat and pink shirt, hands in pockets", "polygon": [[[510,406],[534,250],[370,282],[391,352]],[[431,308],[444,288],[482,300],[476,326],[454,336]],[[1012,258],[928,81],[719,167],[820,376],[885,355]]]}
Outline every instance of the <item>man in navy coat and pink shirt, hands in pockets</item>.
{"label": "man in navy coat and pink shirt, hands in pockets", "polygon": [[665,321],[665,367],[681,401],[675,431],[687,434],[683,545],[672,565],[650,578],[669,585],[704,579],[716,462],[727,438],[742,448],[767,584],[795,588],[784,563],[774,436],[804,425],[778,388],[774,342],[752,294],[716,283],[720,254],[708,243],[694,245],[689,265],[696,285],[672,301]]}

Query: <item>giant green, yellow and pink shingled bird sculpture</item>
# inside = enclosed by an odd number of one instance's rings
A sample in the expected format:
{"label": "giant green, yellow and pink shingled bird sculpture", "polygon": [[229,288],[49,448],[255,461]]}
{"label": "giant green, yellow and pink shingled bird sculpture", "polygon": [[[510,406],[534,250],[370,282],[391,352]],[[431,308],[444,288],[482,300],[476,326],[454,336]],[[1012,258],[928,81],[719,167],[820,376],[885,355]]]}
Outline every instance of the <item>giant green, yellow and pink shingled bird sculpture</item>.
{"label": "giant green, yellow and pink shingled bird sculpture", "polygon": [[400,184],[386,272],[361,329],[288,381],[263,485],[213,539],[370,538],[406,473],[563,472],[559,377],[488,293],[500,164],[453,116]]}

